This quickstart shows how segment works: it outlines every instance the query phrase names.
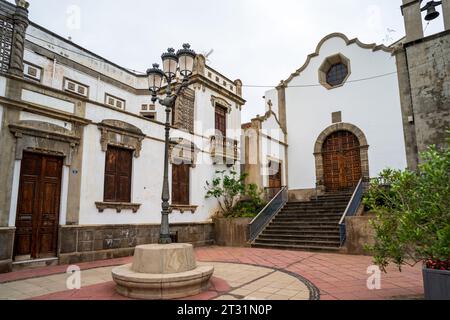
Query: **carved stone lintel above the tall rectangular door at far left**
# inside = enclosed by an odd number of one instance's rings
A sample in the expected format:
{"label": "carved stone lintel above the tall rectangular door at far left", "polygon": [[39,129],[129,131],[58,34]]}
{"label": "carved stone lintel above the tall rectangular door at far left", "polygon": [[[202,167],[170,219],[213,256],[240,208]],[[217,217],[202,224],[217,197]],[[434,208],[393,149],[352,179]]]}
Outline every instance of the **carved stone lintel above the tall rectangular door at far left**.
{"label": "carved stone lintel above the tall rectangular door at far left", "polygon": [[10,124],[9,129],[17,139],[16,160],[22,160],[23,152],[30,151],[63,157],[64,165],[70,167],[80,145],[81,138],[74,131],[48,122],[22,120]]}

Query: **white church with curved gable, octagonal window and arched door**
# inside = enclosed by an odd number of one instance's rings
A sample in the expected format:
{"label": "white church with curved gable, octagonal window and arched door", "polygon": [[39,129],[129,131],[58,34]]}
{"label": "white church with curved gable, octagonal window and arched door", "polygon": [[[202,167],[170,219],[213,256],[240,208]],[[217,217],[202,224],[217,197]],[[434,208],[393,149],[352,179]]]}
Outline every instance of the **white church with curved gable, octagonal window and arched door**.
{"label": "white church with curved gable, octagonal window and arched door", "polygon": [[283,185],[297,198],[407,167],[392,48],[330,34],[265,97],[286,131]]}

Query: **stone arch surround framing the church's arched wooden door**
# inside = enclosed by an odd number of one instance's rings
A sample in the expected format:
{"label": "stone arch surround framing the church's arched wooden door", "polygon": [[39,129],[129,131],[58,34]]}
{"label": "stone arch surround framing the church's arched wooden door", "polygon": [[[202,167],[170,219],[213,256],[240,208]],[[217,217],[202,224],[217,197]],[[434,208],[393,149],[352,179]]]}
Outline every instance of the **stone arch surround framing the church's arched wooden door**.
{"label": "stone arch surround framing the church's arched wooden door", "polygon": [[323,147],[328,137],[339,131],[348,131],[356,136],[359,142],[361,175],[364,180],[369,179],[369,144],[361,129],[349,123],[337,123],[326,128],[317,138],[314,146],[314,157],[316,162],[316,187],[320,192],[326,191],[325,167]]}

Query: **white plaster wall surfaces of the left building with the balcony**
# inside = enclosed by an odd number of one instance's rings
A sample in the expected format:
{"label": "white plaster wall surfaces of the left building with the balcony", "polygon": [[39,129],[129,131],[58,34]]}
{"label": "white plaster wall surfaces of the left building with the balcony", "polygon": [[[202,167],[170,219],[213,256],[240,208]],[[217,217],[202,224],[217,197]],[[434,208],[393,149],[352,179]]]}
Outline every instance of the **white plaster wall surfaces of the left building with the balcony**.
{"label": "white plaster wall surfaces of the left building with the balcony", "polygon": [[[56,54],[84,65],[102,75],[113,78],[129,86],[131,89],[147,90],[146,77],[140,77],[132,73],[126,72],[121,68],[112,65],[106,61],[99,61],[101,58],[81,50],[74,45],[62,41],[45,31],[31,26],[27,33],[44,39],[38,40],[35,37],[27,36],[27,40],[46,48]],[[50,43],[50,44],[49,44]],[[64,49],[65,48],[65,49]],[[54,60],[42,57],[35,52],[26,49],[25,61],[37,65],[43,69],[41,84],[52,87],[57,90],[63,90],[64,78],[77,81],[89,87],[88,99],[92,102],[104,104],[105,93],[122,98],[126,101],[127,112],[139,115],[142,104],[150,104],[151,96],[135,95],[132,90],[125,90],[122,87],[114,86],[104,81],[100,81],[97,77],[84,74],[74,68],[55,63]],[[212,69],[212,77],[219,75]],[[226,85],[223,85],[223,81]],[[2,82],[0,78],[0,92],[2,90]],[[236,92],[234,83],[220,75],[220,85],[228,91]],[[172,223],[177,222],[203,222],[208,221],[212,214],[218,210],[215,200],[205,200],[206,181],[212,180],[217,170],[228,169],[223,165],[213,165],[210,151],[209,137],[215,134],[215,109],[211,103],[211,95],[221,96],[220,93],[214,92],[205,86],[200,88],[194,87],[195,90],[195,135],[180,131],[171,130],[171,137],[184,137],[193,141],[201,152],[198,154],[198,161],[195,168],[191,169],[191,205],[197,205],[198,209],[194,214],[185,212],[174,212],[170,216]],[[68,105],[65,101],[51,98],[39,93],[24,91],[23,99],[26,101],[39,103],[47,107],[53,107],[58,110],[73,112],[73,104]],[[227,100],[231,104],[231,112],[227,115],[227,136],[236,140],[240,139],[241,128],[241,111],[236,103]],[[165,122],[165,109],[156,104],[157,120]],[[118,110],[103,107],[91,102],[86,103],[85,118],[92,123],[84,128],[83,135],[83,159],[82,159],[82,177],[81,177],[81,199],[80,199],[80,219],[81,225],[97,225],[97,224],[146,224],[160,223],[161,220],[161,190],[162,190],[162,172],[164,144],[164,127],[142,118],[138,118],[131,114],[126,114]],[[22,120],[37,120],[53,123],[67,129],[71,129],[71,124],[64,123],[48,117],[38,116],[33,113],[22,113]],[[140,210],[135,214],[131,210],[124,210],[117,213],[115,210],[105,210],[99,213],[95,202],[103,201],[104,188],[104,171],[105,171],[105,153],[101,150],[100,130],[97,124],[105,119],[120,120],[130,123],[147,136],[142,142],[142,151],[139,158],[133,158],[133,176],[132,176],[132,202],[141,204]],[[240,163],[237,162],[235,169],[240,171]],[[63,182],[68,176],[65,171]],[[169,172],[170,174],[170,172]],[[171,180],[171,176],[169,176]],[[65,197],[67,190],[62,190],[62,196]],[[70,195],[68,195],[70,196]],[[65,203],[64,203],[65,202]],[[62,213],[66,210],[67,201],[62,202]],[[65,214],[61,217],[61,223],[65,223]]]}

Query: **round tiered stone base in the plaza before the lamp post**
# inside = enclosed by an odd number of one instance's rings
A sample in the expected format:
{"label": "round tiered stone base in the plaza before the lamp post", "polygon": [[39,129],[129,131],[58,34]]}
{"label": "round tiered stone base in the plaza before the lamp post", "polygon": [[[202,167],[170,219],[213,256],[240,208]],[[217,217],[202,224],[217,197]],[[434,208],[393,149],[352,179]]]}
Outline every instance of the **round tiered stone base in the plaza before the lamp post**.
{"label": "round tiered stone base in the plaza before the lamp post", "polygon": [[212,266],[197,266],[190,244],[136,247],[133,263],[116,267],[112,277],[119,294],[133,299],[177,299],[208,289]]}

